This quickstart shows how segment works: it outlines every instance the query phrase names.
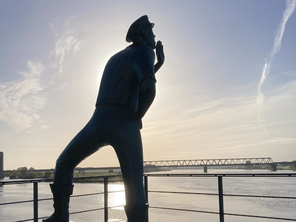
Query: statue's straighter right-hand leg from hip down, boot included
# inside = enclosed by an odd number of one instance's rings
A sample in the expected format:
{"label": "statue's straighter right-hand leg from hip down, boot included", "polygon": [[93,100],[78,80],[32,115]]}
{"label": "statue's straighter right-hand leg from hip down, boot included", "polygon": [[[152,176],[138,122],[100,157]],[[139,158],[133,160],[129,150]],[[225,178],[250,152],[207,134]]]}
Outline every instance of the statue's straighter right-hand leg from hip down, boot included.
{"label": "statue's straighter right-hand leg from hip down, boot included", "polygon": [[123,124],[113,147],[123,176],[128,221],[144,222],[148,204],[143,181],[143,147],[137,121],[131,120]]}

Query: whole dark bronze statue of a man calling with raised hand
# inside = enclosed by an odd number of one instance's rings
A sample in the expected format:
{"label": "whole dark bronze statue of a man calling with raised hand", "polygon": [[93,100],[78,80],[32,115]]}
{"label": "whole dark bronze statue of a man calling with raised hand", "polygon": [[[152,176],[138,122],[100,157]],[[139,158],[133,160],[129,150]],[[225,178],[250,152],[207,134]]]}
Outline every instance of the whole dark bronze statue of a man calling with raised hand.
{"label": "whole dark bronze statue of a man calling with raised hand", "polygon": [[50,184],[54,213],[44,222],[69,222],[74,168],[106,145],[114,148],[120,163],[128,221],[145,221],[148,204],[143,183],[141,119],[154,100],[155,73],[165,59],[161,41],[155,43],[153,27],[147,15],[133,22],[126,35],[126,41],[133,44],[107,62],[93,116],[57,159]]}

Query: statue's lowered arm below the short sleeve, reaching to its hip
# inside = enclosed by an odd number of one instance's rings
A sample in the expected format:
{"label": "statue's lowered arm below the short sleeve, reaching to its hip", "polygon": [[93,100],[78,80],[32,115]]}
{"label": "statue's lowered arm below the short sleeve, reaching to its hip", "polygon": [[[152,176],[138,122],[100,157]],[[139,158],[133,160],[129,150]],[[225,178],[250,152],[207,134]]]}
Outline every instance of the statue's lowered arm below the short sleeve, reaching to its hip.
{"label": "statue's lowered arm below the short sleeve, reaching to its hip", "polygon": [[156,93],[155,80],[152,78],[146,78],[141,83],[139,91],[139,102],[136,111],[136,117],[139,120],[140,129],[142,128],[141,119],[146,114],[147,110],[151,106]]}

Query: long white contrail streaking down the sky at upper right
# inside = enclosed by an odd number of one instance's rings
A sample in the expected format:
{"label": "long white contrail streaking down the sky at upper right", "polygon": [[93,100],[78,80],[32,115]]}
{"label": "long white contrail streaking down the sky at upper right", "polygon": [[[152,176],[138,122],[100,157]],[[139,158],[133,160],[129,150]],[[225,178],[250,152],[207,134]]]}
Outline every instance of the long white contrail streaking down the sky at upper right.
{"label": "long white contrail streaking down the sky at upper right", "polygon": [[274,59],[274,55],[278,53],[281,49],[281,39],[283,38],[286,23],[289,17],[293,14],[296,8],[296,0],[286,0],[286,9],[283,12],[283,18],[281,24],[279,25],[279,29],[276,30],[274,45],[272,47],[271,53],[269,55],[269,59],[265,59],[265,64],[262,70],[261,79],[257,88],[257,104],[258,104],[258,120],[260,119],[260,107],[263,104],[264,96],[261,93],[261,86],[265,82],[266,77],[270,73],[271,62]]}

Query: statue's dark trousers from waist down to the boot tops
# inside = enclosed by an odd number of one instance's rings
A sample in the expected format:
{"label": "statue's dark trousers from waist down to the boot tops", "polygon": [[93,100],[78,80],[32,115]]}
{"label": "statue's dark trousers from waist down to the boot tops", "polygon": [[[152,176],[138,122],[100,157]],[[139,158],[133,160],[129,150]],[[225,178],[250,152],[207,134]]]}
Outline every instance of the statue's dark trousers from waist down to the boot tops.
{"label": "statue's dark trousers from waist down to the boot tops", "polygon": [[96,107],[86,126],[57,158],[53,183],[73,184],[74,168],[106,145],[112,146],[118,157],[126,204],[146,204],[139,121],[134,111],[123,106]]}

